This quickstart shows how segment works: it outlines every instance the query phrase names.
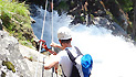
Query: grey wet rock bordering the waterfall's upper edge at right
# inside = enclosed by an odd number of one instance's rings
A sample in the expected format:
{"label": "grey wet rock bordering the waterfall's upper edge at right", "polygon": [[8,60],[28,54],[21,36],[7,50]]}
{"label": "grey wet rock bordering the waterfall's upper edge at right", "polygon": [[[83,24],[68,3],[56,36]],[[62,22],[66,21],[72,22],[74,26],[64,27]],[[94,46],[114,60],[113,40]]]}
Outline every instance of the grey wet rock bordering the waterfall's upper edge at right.
{"label": "grey wet rock bordering the waterfall's upper edge at right", "polygon": [[96,26],[103,26],[108,30],[112,30],[112,33],[114,35],[124,35],[125,37],[128,37],[126,31],[124,31],[123,28],[121,28],[117,23],[107,20],[106,18],[102,16],[94,18],[93,24]]}

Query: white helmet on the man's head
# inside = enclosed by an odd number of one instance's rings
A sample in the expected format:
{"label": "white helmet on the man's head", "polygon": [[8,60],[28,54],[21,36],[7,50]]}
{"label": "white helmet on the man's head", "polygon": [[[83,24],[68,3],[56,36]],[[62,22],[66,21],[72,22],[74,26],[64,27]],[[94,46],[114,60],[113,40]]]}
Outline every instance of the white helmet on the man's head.
{"label": "white helmet on the man's head", "polygon": [[72,37],[71,30],[69,28],[62,26],[59,29],[59,31],[57,31],[57,38],[59,40],[69,40],[71,37]]}

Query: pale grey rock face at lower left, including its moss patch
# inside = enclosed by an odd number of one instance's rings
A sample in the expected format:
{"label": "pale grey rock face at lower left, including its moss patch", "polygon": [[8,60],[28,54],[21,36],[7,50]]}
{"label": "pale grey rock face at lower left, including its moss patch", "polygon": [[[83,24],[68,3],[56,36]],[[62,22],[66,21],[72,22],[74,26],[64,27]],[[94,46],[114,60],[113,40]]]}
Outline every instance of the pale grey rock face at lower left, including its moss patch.
{"label": "pale grey rock face at lower left, including its moss patch", "polygon": [[[24,56],[31,57],[32,61]],[[20,45],[17,38],[0,31],[0,77],[34,77],[35,69],[38,69],[36,77],[41,77],[42,74],[51,77],[51,70],[42,73],[43,64],[38,63],[38,56],[40,56],[39,62],[43,62],[44,55]]]}

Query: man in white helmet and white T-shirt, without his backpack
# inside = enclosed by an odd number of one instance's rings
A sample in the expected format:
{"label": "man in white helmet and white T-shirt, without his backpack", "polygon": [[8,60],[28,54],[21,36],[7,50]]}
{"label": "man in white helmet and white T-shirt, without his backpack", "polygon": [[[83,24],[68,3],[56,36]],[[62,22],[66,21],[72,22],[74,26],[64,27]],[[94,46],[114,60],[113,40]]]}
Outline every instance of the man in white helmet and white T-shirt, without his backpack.
{"label": "man in white helmet and white T-shirt, without his backpack", "polygon": [[60,28],[57,31],[57,38],[61,46],[56,43],[52,43],[51,46],[60,47],[62,48],[62,51],[60,51],[59,54],[53,57],[53,61],[50,61],[48,64],[44,65],[44,69],[50,69],[55,65],[61,64],[63,74],[66,77],[70,77],[72,72],[72,62],[69,58],[65,48],[67,48],[73,54],[74,57],[77,56],[75,47],[71,45],[72,41],[71,30],[66,26]]}

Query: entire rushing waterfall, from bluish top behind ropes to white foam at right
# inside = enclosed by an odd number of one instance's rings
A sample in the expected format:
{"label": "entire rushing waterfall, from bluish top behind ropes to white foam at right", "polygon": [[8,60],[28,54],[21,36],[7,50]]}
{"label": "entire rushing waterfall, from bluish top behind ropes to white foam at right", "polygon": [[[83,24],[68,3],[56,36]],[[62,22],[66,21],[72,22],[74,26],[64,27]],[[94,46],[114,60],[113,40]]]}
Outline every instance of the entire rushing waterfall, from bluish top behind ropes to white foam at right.
{"label": "entire rushing waterfall, from bluish top behind ropes to white foam at right", "polygon": [[[44,10],[38,9],[39,15],[32,16],[36,23],[32,24],[34,34],[40,38]],[[51,13],[46,13],[44,40],[51,43]],[[72,19],[66,14],[61,16],[54,11],[54,42],[60,26],[70,26]],[[124,36],[115,36],[111,30],[83,24],[71,25],[72,45],[77,46],[83,54],[91,54],[94,64],[91,77],[136,77],[136,47],[126,42]]]}

